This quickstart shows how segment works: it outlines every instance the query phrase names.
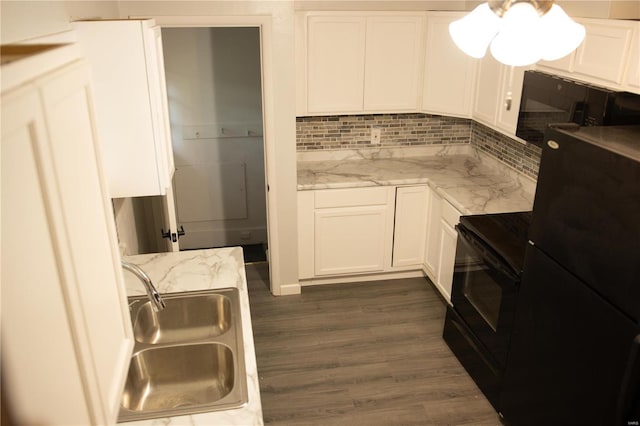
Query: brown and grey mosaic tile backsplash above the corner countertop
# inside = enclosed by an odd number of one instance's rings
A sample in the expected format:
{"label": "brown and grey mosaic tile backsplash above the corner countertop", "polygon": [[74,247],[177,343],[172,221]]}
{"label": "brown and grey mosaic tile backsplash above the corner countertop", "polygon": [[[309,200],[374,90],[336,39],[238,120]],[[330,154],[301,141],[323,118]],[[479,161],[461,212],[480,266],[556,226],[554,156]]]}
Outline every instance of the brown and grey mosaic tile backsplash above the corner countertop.
{"label": "brown and grey mosaic tile backsplash above the corner countertop", "polygon": [[[371,144],[372,127],[380,129],[379,145]],[[420,113],[296,118],[298,152],[442,144],[471,144],[529,177],[538,177],[540,148],[466,118]]]}

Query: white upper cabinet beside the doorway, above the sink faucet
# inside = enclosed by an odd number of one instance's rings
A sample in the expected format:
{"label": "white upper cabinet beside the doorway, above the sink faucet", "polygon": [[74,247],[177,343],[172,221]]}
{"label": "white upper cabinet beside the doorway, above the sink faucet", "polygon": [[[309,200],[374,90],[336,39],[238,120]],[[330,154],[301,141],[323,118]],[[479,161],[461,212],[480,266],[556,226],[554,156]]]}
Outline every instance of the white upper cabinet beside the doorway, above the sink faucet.
{"label": "white upper cabinet beside the doorway, above the sink faucet", "polygon": [[174,167],[160,28],[153,20],[73,26],[92,69],[109,196],[165,195]]}

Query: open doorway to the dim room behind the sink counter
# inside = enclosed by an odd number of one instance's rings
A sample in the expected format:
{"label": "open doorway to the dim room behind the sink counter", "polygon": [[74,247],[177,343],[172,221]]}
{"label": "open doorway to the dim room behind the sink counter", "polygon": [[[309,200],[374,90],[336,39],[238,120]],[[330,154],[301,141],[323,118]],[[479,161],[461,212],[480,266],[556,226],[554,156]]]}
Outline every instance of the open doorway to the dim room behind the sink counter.
{"label": "open doorway to the dim room behind the sink counter", "polygon": [[258,27],[163,27],[180,249],[267,259]]}

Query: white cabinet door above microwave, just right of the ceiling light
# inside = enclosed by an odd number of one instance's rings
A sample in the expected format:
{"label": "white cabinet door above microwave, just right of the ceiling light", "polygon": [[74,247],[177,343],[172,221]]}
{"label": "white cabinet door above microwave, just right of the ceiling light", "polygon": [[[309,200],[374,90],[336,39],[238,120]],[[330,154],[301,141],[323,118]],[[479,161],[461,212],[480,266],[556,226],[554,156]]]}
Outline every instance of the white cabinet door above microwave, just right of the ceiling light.
{"label": "white cabinet door above microwave, just right of the ceiling light", "polygon": [[606,82],[622,83],[633,26],[626,22],[583,22],[587,33],[576,52],[575,72]]}

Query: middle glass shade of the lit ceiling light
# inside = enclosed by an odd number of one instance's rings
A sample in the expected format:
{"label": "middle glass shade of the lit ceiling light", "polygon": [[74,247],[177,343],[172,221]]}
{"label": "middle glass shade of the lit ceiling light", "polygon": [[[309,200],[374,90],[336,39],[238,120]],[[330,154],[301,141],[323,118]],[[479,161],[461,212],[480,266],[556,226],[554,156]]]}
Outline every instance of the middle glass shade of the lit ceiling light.
{"label": "middle glass shade of the lit ceiling light", "polygon": [[525,66],[542,58],[540,17],[530,3],[516,3],[502,18],[498,35],[491,42],[491,54],[506,65]]}

